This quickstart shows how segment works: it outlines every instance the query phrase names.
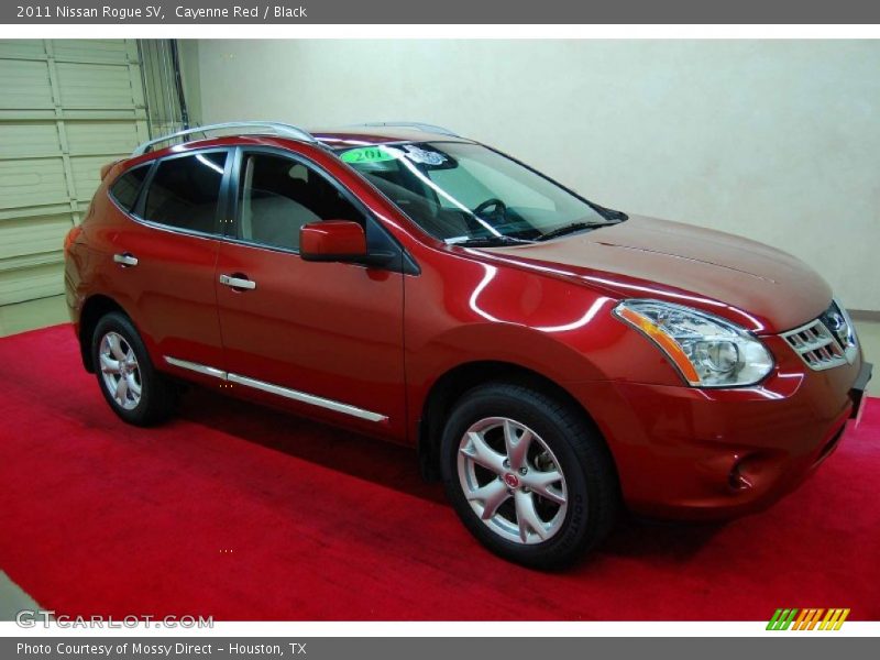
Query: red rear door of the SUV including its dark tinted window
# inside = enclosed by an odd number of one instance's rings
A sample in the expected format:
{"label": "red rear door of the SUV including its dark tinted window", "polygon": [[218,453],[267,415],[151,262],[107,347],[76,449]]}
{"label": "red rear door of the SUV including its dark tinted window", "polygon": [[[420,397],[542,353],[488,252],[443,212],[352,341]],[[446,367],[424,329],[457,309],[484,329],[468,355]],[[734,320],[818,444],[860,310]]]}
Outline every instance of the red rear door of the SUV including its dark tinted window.
{"label": "red rear door of the SUV including its dark tinted window", "polygon": [[132,219],[112,239],[113,284],[161,369],[222,367],[215,268],[229,168],[229,150],[176,154],[153,166],[134,201],[136,182],[123,175],[111,187]]}

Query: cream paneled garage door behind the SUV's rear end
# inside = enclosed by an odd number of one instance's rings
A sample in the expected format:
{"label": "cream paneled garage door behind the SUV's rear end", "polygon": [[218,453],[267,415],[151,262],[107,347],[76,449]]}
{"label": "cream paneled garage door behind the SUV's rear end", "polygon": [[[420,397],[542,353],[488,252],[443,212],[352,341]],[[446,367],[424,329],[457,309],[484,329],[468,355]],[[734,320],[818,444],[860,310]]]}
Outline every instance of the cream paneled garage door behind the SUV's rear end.
{"label": "cream paneled garage door behind the SUV's rear end", "polygon": [[101,165],[144,140],[134,40],[0,40],[0,305],[63,292]]}

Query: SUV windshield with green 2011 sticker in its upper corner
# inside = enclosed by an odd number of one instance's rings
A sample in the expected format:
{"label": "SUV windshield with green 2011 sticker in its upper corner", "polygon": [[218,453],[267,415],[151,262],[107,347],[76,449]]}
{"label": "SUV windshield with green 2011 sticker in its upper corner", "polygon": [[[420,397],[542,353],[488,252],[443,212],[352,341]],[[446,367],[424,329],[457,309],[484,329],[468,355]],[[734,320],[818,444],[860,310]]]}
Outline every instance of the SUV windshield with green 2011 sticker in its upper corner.
{"label": "SUV windshield with green 2011 sticker in its upper corner", "polygon": [[626,219],[480,144],[370,145],[340,157],[447,243],[540,241]]}

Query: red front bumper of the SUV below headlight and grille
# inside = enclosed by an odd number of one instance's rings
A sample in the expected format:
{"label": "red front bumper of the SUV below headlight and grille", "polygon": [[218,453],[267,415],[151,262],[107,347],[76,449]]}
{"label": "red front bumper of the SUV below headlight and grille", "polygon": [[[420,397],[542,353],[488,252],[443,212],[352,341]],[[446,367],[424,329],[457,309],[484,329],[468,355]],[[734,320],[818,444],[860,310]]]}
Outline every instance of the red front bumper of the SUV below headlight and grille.
{"label": "red front bumper of the SUV below headlight and grille", "polygon": [[805,370],[777,340],[767,343],[783,359],[755,387],[575,386],[608,442],[631,510],[683,519],[760,510],[836,449],[864,409],[871,365],[859,355],[833,370]]}

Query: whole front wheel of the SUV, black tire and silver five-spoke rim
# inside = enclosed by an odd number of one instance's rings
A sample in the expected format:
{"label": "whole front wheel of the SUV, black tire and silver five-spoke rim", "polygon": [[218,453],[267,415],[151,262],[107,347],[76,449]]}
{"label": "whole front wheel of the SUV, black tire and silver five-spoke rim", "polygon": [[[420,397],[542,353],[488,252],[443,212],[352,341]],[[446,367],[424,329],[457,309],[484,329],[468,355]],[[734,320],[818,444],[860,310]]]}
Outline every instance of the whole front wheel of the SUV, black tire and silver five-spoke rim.
{"label": "whole front wheel of the SUV, black tire and silver five-spoke rim", "polygon": [[583,413],[521,385],[482,385],[459,399],[443,430],[441,471],[471,534],[535,569],[583,557],[618,509],[614,461]]}

